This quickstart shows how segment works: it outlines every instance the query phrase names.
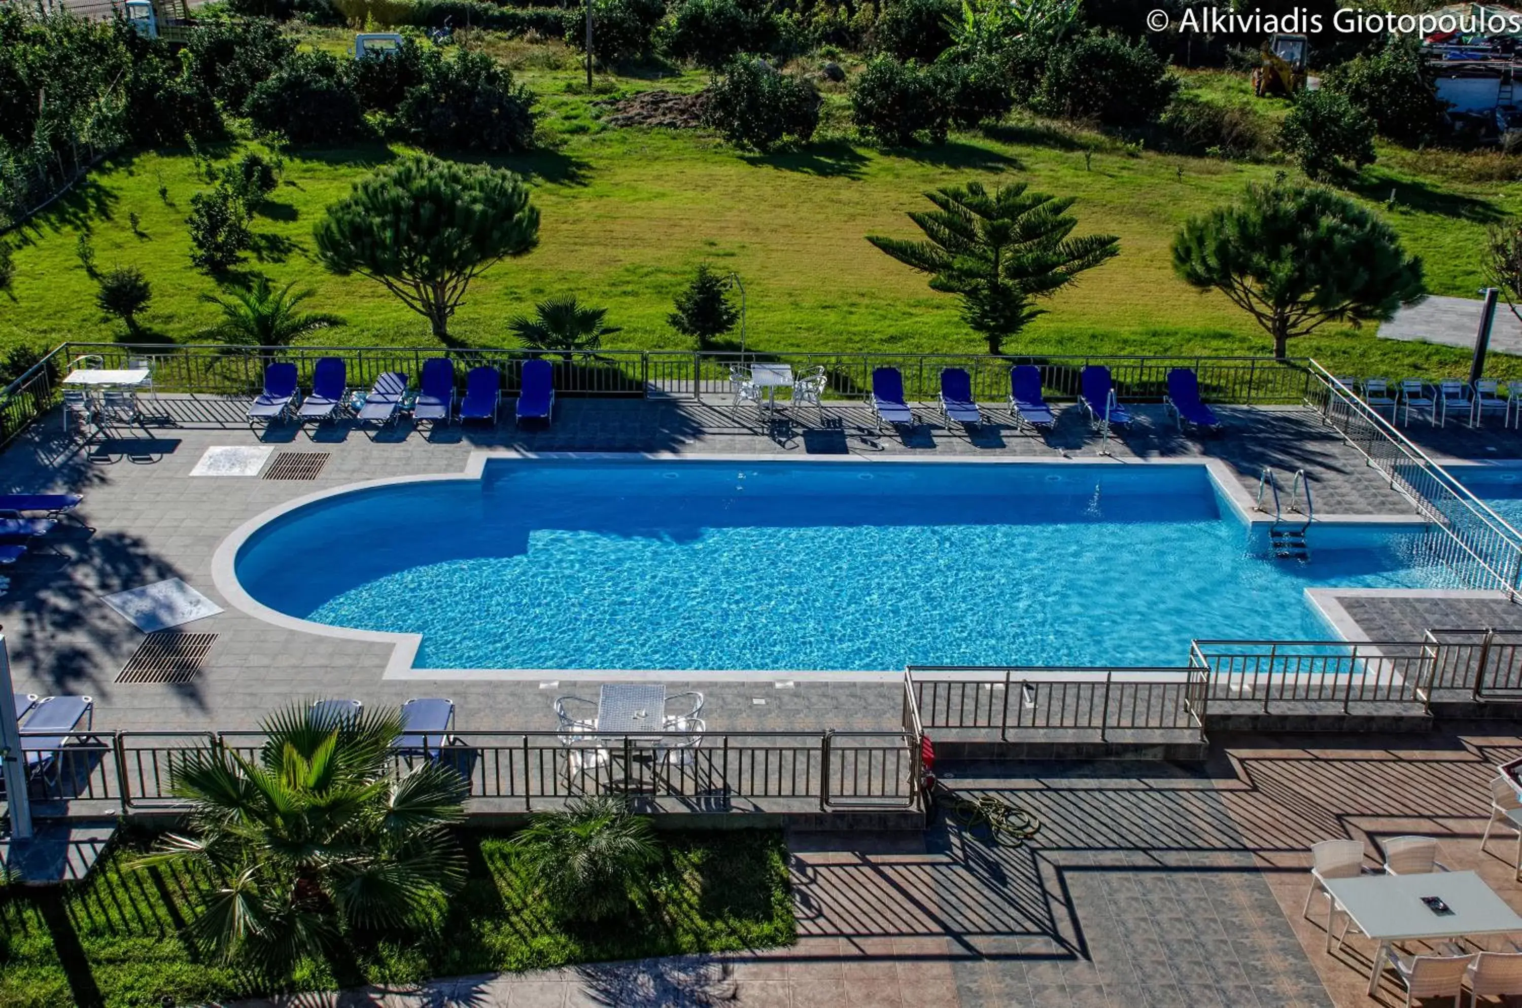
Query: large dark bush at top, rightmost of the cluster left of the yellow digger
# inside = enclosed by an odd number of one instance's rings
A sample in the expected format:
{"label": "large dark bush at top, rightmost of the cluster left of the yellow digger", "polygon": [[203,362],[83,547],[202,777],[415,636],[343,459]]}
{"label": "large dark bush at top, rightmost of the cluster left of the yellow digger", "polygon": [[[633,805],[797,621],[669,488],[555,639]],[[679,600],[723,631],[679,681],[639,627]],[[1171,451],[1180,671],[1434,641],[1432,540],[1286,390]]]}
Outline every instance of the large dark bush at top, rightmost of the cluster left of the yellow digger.
{"label": "large dark bush at top, rightmost of the cluster left of the yellow digger", "polygon": [[1145,126],[1167,108],[1178,81],[1145,41],[1085,35],[1047,56],[1030,106],[1043,116]]}

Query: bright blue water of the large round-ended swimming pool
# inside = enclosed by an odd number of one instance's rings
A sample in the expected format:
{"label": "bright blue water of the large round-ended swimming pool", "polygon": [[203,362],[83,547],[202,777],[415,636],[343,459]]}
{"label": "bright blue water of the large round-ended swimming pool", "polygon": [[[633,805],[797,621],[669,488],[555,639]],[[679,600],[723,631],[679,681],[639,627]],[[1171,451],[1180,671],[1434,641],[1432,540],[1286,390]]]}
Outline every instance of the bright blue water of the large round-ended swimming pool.
{"label": "bright blue water of the large round-ended swimming pool", "polygon": [[1435,584],[1409,541],[1271,559],[1196,465],[501,461],[289,512],[237,576],[419,667],[1178,666],[1330,636],[1307,587]]}

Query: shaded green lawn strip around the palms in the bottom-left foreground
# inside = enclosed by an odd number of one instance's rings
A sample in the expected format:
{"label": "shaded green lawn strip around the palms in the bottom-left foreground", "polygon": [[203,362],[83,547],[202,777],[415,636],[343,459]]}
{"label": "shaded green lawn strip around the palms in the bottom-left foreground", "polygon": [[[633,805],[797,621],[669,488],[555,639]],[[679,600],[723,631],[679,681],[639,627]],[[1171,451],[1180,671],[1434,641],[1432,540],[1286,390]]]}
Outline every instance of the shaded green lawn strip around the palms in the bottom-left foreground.
{"label": "shaded green lawn strip around the palms in the bottom-left foreground", "polygon": [[[513,873],[505,838],[466,833],[470,879],[438,930],[345,940],[344,955],[306,959],[285,990],[406,984],[431,976],[527,970],[793,941],[785,848],[776,832],[665,833],[667,859],[639,912],[586,930],[559,927]],[[56,891],[0,889],[0,1005],[68,1008],[253,997],[269,984],[196,956],[178,937],[195,880],[123,871],[146,838],[117,845],[90,879]]]}

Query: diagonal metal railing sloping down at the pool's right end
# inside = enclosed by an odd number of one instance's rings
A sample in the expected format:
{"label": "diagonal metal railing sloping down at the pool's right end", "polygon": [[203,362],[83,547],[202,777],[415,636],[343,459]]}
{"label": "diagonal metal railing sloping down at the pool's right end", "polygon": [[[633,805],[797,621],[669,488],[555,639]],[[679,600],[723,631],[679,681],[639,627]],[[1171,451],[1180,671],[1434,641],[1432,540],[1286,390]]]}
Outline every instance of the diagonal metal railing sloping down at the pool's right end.
{"label": "diagonal metal railing sloping down at the pool's right end", "polygon": [[1431,523],[1422,550],[1467,585],[1517,594],[1522,534],[1315,360],[1306,403]]}

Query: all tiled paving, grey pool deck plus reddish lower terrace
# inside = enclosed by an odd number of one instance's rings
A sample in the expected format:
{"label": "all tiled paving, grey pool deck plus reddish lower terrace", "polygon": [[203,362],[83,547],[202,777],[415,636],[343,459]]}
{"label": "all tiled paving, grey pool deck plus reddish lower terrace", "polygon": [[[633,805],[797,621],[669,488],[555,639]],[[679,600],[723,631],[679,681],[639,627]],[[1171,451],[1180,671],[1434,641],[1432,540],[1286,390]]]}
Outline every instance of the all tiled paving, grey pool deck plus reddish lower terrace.
{"label": "all tiled paving, grey pool deck plus reddish lower terrace", "polygon": [[[218,634],[204,670],[183,686],[117,684],[142,636],[100,594],[184,578],[225,604],[210,579],[216,546],[248,518],[297,496],[361,479],[455,473],[475,450],[679,452],[732,455],[1035,455],[1093,458],[1097,439],[1064,415],[1047,442],[1008,426],[966,439],[928,426],[904,444],[866,430],[860,407],[828,409],[820,423],[759,430],[728,409],[693,403],[568,400],[543,433],[452,427],[425,436],[405,427],[371,439],[345,426],[268,441],[330,452],[315,482],[192,477],[212,445],[253,445],[242,406],[164,401],[167,418],[114,432],[81,450],[52,415],[0,458],[5,491],[73,490],[93,532],[65,528],[55,556],[29,558],[0,599],[17,687],[90,693],[100,728],[253,727],[295,696],[353,696],[396,704],[452,696],[460,728],[551,728],[552,692],[537,683],[384,681],[390,646],[317,637],[263,623],[234,608],[190,626]],[[151,412],[154,412],[151,409]],[[924,410],[928,417],[931,410]],[[1113,444],[1117,459],[1213,456],[1256,490],[1263,465],[1306,468],[1318,514],[1409,514],[1362,459],[1313,415],[1291,409],[1224,409],[1230,433],[1180,438],[1161,410]],[[1423,432],[1425,433],[1425,432]],[[1438,450],[1522,455],[1522,436],[1434,432]],[[405,435],[405,436],[403,436]],[[1505,449],[1481,455],[1481,449]],[[300,566],[292,570],[300,576]],[[1463,605],[1460,605],[1463,602]],[[1495,601],[1365,599],[1356,619],[1370,637],[1388,629],[1502,626],[1516,607]],[[1467,607],[1467,608],[1466,608]],[[1476,608],[1479,607],[1479,608]],[[1522,620],[1510,619],[1511,626]],[[1180,655],[1183,663],[1184,655]],[[778,677],[781,678],[781,677]],[[595,689],[595,687],[594,687]],[[673,686],[673,689],[677,689]],[[896,727],[898,687],[855,683],[708,683],[711,728],[801,730]],[[753,699],[766,699],[764,705]],[[1435,833],[1443,859],[1476,867],[1514,906],[1510,867],[1476,851],[1485,781],[1514,737],[1420,736],[1355,743],[1285,739],[1216,740],[1199,771],[1163,763],[1005,763],[956,768],[959,788],[1020,792],[1046,829],[1029,847],[989,848],[936,826],[922,838],[796,835],[798,946],[696,968],[633,964],[524,978],[479,978],[419,993],[355,994],[347,1003],[472,1005],[1365,1005],[1371,946],[1350,940],[1321,952],[1320,924],[1300,920],[1306,845],[1329,838],[1374,841]],[[1498,853],[1508,842],[1493,845]],[[1376,847],[1368,847],[1374,857]],[[300,1003],[321,1003],[303,999]]]}

